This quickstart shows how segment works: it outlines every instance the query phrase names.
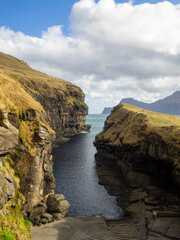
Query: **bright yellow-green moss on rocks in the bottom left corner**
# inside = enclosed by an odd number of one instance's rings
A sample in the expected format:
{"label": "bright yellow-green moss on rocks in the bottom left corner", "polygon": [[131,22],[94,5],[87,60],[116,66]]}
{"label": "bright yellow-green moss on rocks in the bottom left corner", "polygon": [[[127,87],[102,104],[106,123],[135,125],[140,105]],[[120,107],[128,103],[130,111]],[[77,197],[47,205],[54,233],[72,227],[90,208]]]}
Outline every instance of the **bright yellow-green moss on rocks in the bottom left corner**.
{"label": "bright yellow-green moss on rocks in the bottom left corner", "polygon": [[[29,230],[31,223],[24,219],[21,212],[25,198],[20,193],[19,178],[13,168],[13,160],[7,155],[1,161],[3,166],[0,168],[0,173],[2,173],[3,181],[6,183],[8,173],[13,180],[11,188],[14,188],[15,195],[0,210],[0,239],[28,240],[30,239]],[[0,187],[0,202],[5,197],[4,193],[8,191],[8,188],[9,185],[6,186],[6,189]]]}

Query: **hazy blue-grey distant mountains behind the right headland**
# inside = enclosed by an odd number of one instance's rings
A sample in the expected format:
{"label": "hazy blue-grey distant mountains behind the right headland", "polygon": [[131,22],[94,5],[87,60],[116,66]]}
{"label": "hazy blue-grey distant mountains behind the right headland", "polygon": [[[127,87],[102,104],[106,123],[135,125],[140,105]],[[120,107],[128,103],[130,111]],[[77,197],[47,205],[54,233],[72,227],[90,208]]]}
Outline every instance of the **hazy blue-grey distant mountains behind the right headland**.
{"label": "hazy blue-grey distant mountains behind the right headland", "polygon": [[[128,103],[154,112],[180,115],[180,91],[176,91],[172,95],[153,103],[140,102],[134,98],[123,98],[120,103]],[[112,110],[113,107],[105,107],[102,114],[110,114]]]}

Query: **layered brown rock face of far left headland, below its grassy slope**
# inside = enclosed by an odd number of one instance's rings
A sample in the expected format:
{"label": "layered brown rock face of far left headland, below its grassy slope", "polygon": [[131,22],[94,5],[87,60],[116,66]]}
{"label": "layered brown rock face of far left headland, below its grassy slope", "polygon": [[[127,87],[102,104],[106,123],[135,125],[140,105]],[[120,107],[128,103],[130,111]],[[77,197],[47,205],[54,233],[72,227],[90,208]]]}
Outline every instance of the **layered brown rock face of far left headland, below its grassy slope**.
{"label": "layered brown rock face of far left headland, below its grassy slope", "polygon": [[57,135],[69,136],[90,129],[90,126],[86,125],[88,107],[84,103],[85,95],[80,88],[70,85],[65,92],[53,89],[53,92],[42,91],[41,94],[34,93],[38,88],[33,84],[30,89],[29,94],[43,106],[46,121]]}

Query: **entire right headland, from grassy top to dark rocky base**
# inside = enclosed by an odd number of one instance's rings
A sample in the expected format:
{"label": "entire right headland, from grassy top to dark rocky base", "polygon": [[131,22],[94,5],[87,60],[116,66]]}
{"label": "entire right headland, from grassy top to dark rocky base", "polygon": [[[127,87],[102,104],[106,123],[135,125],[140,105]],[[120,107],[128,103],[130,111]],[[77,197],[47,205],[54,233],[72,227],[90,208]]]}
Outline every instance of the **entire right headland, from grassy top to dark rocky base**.
{"label": "entire right headland, from grassy top to dark rocky base", "polygon": [[180,119],[120,104],[94,144],[99,183],[139,222],[139,239],[179,239]]}

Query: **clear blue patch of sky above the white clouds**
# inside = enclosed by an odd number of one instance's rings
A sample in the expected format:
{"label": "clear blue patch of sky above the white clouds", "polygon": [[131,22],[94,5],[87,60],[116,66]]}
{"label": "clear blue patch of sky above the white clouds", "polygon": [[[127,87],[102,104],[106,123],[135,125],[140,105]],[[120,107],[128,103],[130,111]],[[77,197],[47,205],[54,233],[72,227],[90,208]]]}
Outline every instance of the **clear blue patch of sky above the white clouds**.
{"label": "clear blue patch of sky above the white clouds", "polygon": [[[69,15],[75,0],[2,0],[0,25],[31,36],[40,36],[43,30],[54,25],[63,25],[64,34],[69,34]],[[98,2],[98,0],[96,0]],[[116,0],[116,3],[128,2]],[[134,5],[144,2],[157,3],[163,0],[134,0]],[[169,1],[178,4],[179,0]]]}

